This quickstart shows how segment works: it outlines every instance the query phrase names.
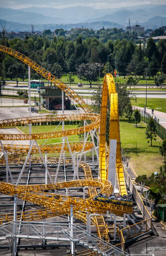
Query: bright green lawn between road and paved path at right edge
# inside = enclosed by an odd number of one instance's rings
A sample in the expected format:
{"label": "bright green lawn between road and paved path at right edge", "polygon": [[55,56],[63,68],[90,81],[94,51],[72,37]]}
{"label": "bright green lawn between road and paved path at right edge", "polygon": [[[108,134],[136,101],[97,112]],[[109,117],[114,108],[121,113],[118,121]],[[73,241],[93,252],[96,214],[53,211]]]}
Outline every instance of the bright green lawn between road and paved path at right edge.
{"label": "bright green lawn between road and paved path at right edge", "polygon": [[[145,98],[137,98],[137,102],[133,101],[132,104],[143,108],[145,106],[145,101]],[[147,108],[153,108],[154,110],[166,113],[166,99],[147,98]]]}

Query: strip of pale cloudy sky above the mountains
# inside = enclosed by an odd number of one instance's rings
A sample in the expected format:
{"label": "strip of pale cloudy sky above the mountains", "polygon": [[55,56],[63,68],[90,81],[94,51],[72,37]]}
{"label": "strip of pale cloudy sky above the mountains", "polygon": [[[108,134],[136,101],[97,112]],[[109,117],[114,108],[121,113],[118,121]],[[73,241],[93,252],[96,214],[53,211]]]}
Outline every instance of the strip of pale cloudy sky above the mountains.
{"label": "strip of pale cloudy sky above the mountains", "polygon": [[88,6],[96,9],[118,8],[141,4],[166,4],[165,0],[1,0],[0,7],[20,9],[27,7],[66,8],[71,6]]}

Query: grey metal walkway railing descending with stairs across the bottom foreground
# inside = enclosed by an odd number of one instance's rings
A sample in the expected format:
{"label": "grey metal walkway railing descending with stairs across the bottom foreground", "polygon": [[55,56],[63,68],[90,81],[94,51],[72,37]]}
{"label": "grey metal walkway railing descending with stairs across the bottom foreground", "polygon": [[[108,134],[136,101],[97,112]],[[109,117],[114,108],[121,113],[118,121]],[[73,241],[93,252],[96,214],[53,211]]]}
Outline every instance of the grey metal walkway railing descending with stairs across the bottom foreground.
{"label": "grey metal walkway railing descending with stairs across the bottom foreground", "polygon": [[47,239],[71,241],[76,244],[80,244],[91,251],[96,251],[101,256],[130,256],[130,254],[76,225],[25,221],[21,222],[20,229],[19,225],[20,221],[12,221],[10,223],[2,224],[0,226],[0,238],[8,238],[8,240],[11,239],[12,243],[14,243],[14,240],[17,237],[25,239],[42,239],[42,241]]}

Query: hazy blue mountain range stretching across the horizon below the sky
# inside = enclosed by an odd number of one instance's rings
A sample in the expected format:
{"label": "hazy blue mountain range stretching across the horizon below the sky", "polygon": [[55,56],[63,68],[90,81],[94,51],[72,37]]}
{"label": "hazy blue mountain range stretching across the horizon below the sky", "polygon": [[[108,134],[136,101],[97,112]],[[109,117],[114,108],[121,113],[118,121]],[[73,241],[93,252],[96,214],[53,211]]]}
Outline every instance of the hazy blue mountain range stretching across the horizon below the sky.
{"label": "hazy blue mountain range stretching across the horizon below the sky", "polygon": [[94,9],[86,6],[61,9],[48,7],[29,7],[17,10],[0,8],[0,19],[8,21],[6,27],[8,31],[11,28],[12,31],[23,31],[25,28],[30,31],[31,24],[34,25],[35,30],[39,30],[39,27],[40,29],[51,29],[58,26],[69,29],[70,27],[98,29],[102,28],[101,26],[124,28],[128,25],[129,18],[131,25],[137,23],[144,25],[146,28],[157,28],[161,24],[166,26],[165,13],[166,5],[159,4],[108,9]]}

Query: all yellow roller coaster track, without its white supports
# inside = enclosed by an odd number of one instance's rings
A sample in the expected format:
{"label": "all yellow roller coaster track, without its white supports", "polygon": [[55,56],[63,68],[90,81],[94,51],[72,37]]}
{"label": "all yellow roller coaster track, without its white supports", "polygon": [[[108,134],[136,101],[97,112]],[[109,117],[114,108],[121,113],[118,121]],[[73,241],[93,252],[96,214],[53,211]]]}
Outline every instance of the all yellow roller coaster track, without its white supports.
{"label": "all yellow roller coaster track, without its white supports", "polygon": [[[126,194],[126,186],[123,175],[122,161],[121,161],[121,149],[120,149],[120,135],[119,135],[119,114],[118,114],[118,96],[115,89],[115,84],[112,75],[106,74],[104,77],[103,83],[103,93],[102,93],[102,104],[101,104],[101,115],[93,114],[91,109],[87,104],[81,99],[76,92],[74,92],[67,84],[64,84],[60,79],[55,77],[52,74],[42,68],[40,65],[35,63],[33,60],[29,59],[27,56],[17,52],[13,49],[0,45],[0,51],[10,54],[11,56],[21,60],[26,65],[30,66],[37,73],[42,75],[44,78],[49,80],[53,86],[57,86],[63,92],[65,92],[70,99],[74,100],[79,106],[84,110],[83,114],[63,114],[63,115],[46,115],[46,116],[35,116],[35,117],[25,117],[25,118],[16,118],[10,120],[0,121],[0,128],[18,126],[21,124],[30,124],[37,122],[48,122],[48,121],[66,121],[66,120],[87,120],[91,121],[90,124],[87,124],[83,127],[69,129],[64,131],[55,131],[55,132],[43,132],[43,133],[32,133],[32,134],[0,134],[0,140],[38,140],[38,139],[47,139],[47,138],[57,138],[63,136],[70,136],[74,134],[79,134],[83,132],[88,132],[94,129],[98,129],[100,126],[100,135],[99,135],[99,163],[100,163],[100,179],[93,179],[90,166],[83,162],[80,163],[80,167],[83,168],[85,174],[85,180],[76,180],[69,182],[60,182],[55,184],[47,185],[33,185],[33,186],[14,186],[9,183],[0,182],[0,192],[8,195],[14,195],[17,193],[18,197],[31,202],[33,204],[41,205],[46,209],[40,209],[37,211],[27,211],[23,212],[23,220],[39,220],[42,218],[49,218],[62,214],[70,213],[70,204],[73,204],[74,215],[76,218],[79,218],[86,222],[86,211],[90,213],[105,213],[106,211],[122,215],[123,213],[133,212],[132,206],[123,206],[118,204],[108,204],[93,201],[93,197],[97,194],[96,188],[89,188],[89,198],[81,199],[74,198],[70,196],[59,196],[52,193],[43,192],[42,190],[52,190],[57,188],[69,188],[69,187],[99,187],[103,193],[109,194],[112,192],[112,186],[107,180],[108,170],[107,170],[107,159],[108,153],[111,148],[108,148],[105,142],[105,130],[106,130],[106,115],[107,115],[107,105],[108,97],[110,99],[110,139],[117,140],[117,152],[116,152],[116,171],[117,171],[117,180],[119,185],[119,193]],[[54,145],[45,145],[40,146],[41,152],[60,152],[61,143]],[[83,142],[71,142],[70,143],[72,151],[77,150],[81,151],[83,149]],[[84,150],[89,150],[93,147],[91,142],[88,142]],[[21,145],[11,145],[4,144],[4,149],[7,149],[9,164],[22,164],[24,163],[24,158],[29,150],[29,146]],[[67,145],[65,144],[64,151],[68,152]],[[37,147],[32,148],[32,154],[38,153]],[[17,158],[19,157],[19,159]],[[59,159],[48,158],[47,162],[54,164],[57,163]],[[32,158],[32,163],[40,163],[39,158]],[[4,158],[0,159],[1,164],[5,164]],[[63,163],[63,160],[61,160]],[[66,159],[66,164],[72,164],[70,159]],[[21,213],[18,213],[18,217],[21,216]],[[3,221],[9,221],[13,218],[12,214],[0,215],[1,223]],[[103,235],[108,235],[108,227],[105,223],[104,217],[94,217],[92,222],[97,226],[98,236],[101,238]],[[106,237],[106,240],[107,237]]]}

